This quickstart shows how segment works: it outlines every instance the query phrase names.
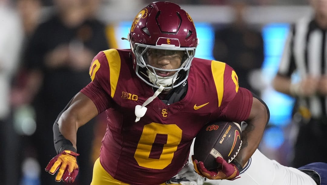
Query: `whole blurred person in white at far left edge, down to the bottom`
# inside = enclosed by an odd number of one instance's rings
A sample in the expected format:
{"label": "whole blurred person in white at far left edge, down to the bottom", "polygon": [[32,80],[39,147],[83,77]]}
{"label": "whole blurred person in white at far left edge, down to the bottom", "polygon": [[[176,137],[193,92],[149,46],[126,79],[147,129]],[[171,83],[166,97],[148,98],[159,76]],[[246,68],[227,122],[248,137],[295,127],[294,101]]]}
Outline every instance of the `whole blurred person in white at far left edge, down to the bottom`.
{"label": "whole blurred person in white at far left edge, down to the bottom", "polygon": [[17,143],[10,119],[10,83],[19,63],[23,39],[21,20],[9,0],[0,0],[0,184],[15,183],[10,173],[17,172],[18,162],[11,158]]}

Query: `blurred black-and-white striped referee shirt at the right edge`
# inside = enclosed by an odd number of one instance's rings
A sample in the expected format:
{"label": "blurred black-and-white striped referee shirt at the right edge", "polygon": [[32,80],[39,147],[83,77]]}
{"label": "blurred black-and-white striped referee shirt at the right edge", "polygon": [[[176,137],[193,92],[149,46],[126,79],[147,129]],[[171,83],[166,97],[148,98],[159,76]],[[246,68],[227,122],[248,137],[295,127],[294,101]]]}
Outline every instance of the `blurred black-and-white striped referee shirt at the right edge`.
{"label": "blurred black-and-white striped referee shirt at the right edge", "polygon": [[[286,77],[297,71],[301,79],[307,75],[320,77],[327,73],[326,30],[318,27],[313,16],[294,24],[288,34],[278,74]],[[312,96],[299,99],[312,117],[326,116],[327,97]]]}

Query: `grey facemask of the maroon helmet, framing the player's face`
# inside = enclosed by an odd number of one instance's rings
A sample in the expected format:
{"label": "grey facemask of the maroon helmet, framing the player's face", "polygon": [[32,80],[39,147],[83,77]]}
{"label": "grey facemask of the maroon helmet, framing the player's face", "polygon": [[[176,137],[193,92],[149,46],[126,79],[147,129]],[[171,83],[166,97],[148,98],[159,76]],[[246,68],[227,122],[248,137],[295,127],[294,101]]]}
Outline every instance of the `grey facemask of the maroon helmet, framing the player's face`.
{"label": "grey facemask of the maroon helmet, framing the player's face", "polygon": [[[151,46],[135,43],[136,74],[152,87],[175,88],[186,81],[195,47]],[[169,61],[169,62],[168,62]],[[164,65],[173,68],[167,69]]]}

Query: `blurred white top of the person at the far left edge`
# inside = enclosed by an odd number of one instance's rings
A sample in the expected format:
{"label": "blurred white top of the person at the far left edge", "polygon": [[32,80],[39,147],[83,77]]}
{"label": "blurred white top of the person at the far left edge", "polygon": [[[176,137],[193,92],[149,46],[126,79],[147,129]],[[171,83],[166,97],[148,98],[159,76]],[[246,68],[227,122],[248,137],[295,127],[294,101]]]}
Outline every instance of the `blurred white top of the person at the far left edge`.
{"label": "blurred white top of the person at the far left edge", "polygon": [[24,35],[19,14],[9,2],[0,0],[0,120],[5,120],[10,112],[10,82],[18,66]]}

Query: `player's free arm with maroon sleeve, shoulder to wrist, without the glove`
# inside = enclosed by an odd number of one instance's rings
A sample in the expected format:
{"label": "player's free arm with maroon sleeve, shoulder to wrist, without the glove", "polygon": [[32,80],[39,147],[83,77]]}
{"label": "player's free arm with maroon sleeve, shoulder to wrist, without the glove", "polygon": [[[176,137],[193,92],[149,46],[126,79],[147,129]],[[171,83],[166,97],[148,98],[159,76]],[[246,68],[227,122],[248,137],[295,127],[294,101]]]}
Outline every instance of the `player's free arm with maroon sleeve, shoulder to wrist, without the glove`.
{"label": "player's free arm with maroon sleeve, shoulder to wrist, without the glove", "polygon": [[109,72],[107,56],[100,51],[91,63],[89,74],[92,82],[77,93],[54,124],[54,143],[58,153],[62,151],[60,148],[71,148],[69,145],[73,146],[71,150],[76,150],[77,129],[109,107],[111,97],[103,88],[110,88],[108,84],[111,83],[107,81]]}

